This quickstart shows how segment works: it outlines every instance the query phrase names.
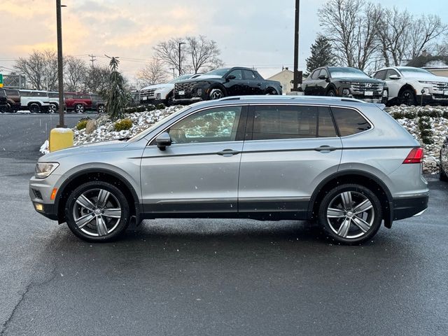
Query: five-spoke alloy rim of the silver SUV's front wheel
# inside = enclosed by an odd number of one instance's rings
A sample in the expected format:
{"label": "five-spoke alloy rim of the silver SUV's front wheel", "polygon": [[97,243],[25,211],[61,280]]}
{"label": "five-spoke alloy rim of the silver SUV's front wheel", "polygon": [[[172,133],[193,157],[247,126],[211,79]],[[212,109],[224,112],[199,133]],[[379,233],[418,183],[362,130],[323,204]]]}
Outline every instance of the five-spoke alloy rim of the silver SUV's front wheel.
{"label": "five-spoke alloy rim of the silver SUV's front wheel", "polygon": [[118,227],[122,217],[120,202],[104,189],[90,189],[82,193],[73,205],[73,219],[86,235],[108,235]]}

